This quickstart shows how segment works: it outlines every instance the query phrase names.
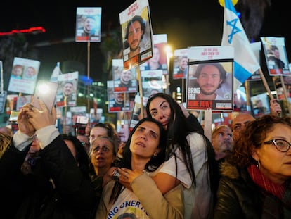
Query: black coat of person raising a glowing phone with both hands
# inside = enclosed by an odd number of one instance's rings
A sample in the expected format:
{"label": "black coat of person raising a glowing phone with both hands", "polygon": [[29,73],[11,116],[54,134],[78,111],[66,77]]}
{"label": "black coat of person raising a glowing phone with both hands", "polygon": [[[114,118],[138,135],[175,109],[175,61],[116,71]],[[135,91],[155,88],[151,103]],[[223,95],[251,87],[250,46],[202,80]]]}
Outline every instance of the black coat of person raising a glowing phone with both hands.
{"label": "black coat of person raising a glowing phone with both hands", "polygon": [[30,175],[20,172],[26,154],[11,145],[0,159],[1,218],[89,218],[93,187],[62,137],[39,151]]}

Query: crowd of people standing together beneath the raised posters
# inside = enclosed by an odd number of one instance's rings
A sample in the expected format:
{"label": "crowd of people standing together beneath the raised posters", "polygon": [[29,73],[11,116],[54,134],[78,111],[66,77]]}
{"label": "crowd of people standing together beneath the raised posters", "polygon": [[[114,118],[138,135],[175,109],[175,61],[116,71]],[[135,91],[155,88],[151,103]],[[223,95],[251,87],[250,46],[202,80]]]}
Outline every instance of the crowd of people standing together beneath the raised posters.
{"label": "crowd of people standing together beneath the raised posters", "polygon": [[126,141],[111,123],[60,133],[56,108],[38,101],[17,132],[0,132],[1,218],[291,216],[291,118],[276,100],[208,139],[183,105],[153,94]]}

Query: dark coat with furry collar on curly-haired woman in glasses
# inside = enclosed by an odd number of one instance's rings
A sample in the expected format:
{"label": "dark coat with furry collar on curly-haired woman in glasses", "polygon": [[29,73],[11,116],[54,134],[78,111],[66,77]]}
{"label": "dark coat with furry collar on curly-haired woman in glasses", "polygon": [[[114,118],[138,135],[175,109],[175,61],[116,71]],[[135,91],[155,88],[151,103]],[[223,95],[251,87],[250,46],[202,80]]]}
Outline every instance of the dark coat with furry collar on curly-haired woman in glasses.
{"label": "dark coat with furry collar on curly-haired woman in glasses", "polygon": [[291,218],[291,205],[283,206],[276,196],[262,192],[246,169],[224,162],[214,218]]}

